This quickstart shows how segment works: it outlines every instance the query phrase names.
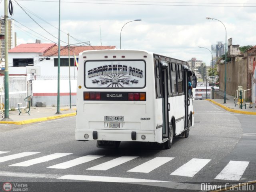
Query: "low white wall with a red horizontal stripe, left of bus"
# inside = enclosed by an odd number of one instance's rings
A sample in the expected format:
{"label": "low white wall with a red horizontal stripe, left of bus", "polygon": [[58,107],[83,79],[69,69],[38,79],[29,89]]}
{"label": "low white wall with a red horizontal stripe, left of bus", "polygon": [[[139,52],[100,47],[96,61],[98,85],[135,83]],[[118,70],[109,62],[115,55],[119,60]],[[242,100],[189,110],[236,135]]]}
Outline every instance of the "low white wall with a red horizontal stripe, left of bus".
{"label": "low white wall with a red horizontal stripe, left of bus", "polygon": [[[76,105],[76,80],[71,82],[71,105]],[[35,80],[32,83],[32,106],[46,102],[46,106],[57,106],[57,80]],[[60,80],[60,106],[69,106],[69,80]]]}

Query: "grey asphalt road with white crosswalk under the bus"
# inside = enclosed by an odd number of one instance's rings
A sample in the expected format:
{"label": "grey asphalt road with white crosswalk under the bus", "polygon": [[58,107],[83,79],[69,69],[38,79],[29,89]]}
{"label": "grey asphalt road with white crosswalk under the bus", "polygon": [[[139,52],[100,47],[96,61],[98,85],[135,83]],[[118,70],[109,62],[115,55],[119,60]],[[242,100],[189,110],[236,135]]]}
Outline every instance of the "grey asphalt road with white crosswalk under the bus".
{"label": "grey asphalt road with white crosswalk under the bus", "polygon": [[[140,142],[121,142],[118,149],[106,149],[97,148],[96,141],[75,141],[75,117],[21,126],[0,124],[0,182],[33,182],[30,187],[37,191],[49,186],[48,191],[70,187],[68,191],[192,192],[206,184],[256,180],[255,116],[233,114],[204,100],[194,101],[194,111],[189,137],[174,138],[170,150]],[[65,165],[69,168],[60,164],[88,155],[93,160],[76,166],[71,161]],[[166,157],[166,163],[148,173],[129,171],[161,157]],[[28,161],[36,158],[42,162]],[[112,164],[103,164],[111,160]],[[59,168],[48,168],[56,164]],[[121,183],[108,183],[117,180]]]}

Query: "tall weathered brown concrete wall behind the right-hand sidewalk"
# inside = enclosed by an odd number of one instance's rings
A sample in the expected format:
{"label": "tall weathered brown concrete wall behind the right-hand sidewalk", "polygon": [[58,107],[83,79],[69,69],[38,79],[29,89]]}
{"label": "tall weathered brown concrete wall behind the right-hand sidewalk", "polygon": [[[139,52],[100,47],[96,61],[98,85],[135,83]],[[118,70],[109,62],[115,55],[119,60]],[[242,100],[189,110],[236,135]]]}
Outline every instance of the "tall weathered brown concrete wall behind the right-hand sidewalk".
{"label": "tall weathered brown concrete wall behind the right-hand sidewalk", "polygon": [[[225,82],[225,64],[219,64],[220,89],[224,90]],[[232,58],[231,62],[227,62],[226,70],[226,94],[235,96],[238,86],[247,88],[247,60]],[[246,98],[245,98],[246,99]]]}

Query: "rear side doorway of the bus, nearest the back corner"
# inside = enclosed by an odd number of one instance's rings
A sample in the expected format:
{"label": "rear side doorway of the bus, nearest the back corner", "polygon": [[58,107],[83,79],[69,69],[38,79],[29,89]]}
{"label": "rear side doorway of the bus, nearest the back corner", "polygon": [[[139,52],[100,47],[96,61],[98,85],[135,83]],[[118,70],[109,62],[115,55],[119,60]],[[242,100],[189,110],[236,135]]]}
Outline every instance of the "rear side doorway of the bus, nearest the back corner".
{"label": "rear side doorway of the bus, nearest the back corner", "polygon": [[169,137],[169,110],[170,104],[168,102],[168,63],[160,61],[161,77],[162,77],[162,110],[163,110],[163,138]]}

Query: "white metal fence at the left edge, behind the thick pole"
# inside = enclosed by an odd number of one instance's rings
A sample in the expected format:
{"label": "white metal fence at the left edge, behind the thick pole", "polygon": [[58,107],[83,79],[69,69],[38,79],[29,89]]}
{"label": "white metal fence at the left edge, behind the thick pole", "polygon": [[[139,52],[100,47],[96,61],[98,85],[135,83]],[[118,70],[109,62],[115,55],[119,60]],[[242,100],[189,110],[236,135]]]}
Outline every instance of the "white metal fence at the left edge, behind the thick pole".
{"label": "white metal fence at the left edge, behind the thick pole", "polygon": [[[4,77],[0,77],[0,84],[4,86]],[[4,104],[4,90],[0,93]],[[27,102],[24,98],[28,96],[27,77],[26,76],[9,76],[9,108],[18,108],[18,103],[21,108],[27,107]]]}

